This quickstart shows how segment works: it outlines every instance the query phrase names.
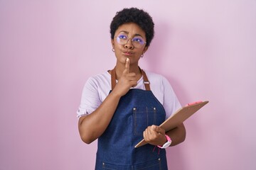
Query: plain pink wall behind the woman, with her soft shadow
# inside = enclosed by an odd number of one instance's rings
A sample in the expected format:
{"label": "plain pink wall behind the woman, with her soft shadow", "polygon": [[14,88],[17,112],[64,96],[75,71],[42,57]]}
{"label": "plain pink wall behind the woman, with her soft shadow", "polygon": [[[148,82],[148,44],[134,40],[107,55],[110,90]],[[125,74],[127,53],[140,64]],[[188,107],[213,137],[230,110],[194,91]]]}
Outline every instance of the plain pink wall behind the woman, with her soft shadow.
{"label": "plain pink wall behind the woman, with her soft shadow", "polygon": [[182,105],[210,103],[168,149],[170,169],[256,169],[256,1],[0,1],[0,169],[94,169],[76,110],[90,75],[112,69],[116,11],[144,8],[156,33],[141,61]]}

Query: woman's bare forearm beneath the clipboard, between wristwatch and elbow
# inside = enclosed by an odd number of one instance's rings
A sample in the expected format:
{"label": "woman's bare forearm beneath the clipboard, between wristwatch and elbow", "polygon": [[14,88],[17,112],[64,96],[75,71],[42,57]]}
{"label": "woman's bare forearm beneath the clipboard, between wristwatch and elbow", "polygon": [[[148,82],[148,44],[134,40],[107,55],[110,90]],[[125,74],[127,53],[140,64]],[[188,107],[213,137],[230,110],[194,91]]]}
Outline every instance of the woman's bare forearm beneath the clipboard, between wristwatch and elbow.
{"label": "woman's bare forearm beneath the clipboard, between wristwatch and elbow", "polygon": [[169,130],[168,132],[166,132],[166,135],[169,135],[169,137],[171,137],[171,146],[178,145],[186,138],[185,126],[182,123],[173,130]]}

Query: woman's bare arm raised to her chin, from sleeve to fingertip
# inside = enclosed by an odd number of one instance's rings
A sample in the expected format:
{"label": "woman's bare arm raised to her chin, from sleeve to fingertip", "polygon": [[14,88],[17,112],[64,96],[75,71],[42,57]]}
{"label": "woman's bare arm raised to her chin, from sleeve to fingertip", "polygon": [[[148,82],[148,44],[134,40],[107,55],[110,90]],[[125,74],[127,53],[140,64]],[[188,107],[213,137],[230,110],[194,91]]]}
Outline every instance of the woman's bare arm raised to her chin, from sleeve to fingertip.
{"label": "woman's bare arm raised to her chin, from sleeve to fingertip", "polygon": [[105,101],[90,115],[82,116],[79,119],[78,129],[83,142],[90,144],[105,132],[117,108],[119,99],[136,84],[136,74],[129,73],[129,60],[127,60],[122,76],[113,91],[105,98]]}

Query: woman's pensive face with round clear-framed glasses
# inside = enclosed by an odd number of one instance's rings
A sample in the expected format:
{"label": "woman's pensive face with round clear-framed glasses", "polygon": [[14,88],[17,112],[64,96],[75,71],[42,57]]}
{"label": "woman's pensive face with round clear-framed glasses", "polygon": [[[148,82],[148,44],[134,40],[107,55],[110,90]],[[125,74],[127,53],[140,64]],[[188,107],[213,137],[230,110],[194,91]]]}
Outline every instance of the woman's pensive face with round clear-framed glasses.
{"label": "woman's pensive face with round clear-framed glasses", "polygon": [[112,47],[117,57],[117,63],[125,63],[127,57],[130,64],[138,64],[146,52],[146,33],[136,23],[124,23],[114,33]]}

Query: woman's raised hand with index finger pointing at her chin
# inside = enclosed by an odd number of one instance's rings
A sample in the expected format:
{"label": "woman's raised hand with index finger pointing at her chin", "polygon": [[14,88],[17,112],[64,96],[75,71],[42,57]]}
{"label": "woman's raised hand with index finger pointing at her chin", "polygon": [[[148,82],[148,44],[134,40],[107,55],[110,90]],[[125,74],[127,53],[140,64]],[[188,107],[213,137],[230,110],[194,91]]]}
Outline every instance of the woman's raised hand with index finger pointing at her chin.
{"label": "woman's raised hand with index finger pointing at her chin", "polygon": [[117,85],[113,89],[113,91],[117,92],[120,96],[124,96],[132,86],[137,85],[136,74],[134,72],[129,72],[129,63],[129,58],[127,58],[125,61],[124,72],[122,72],[122,76],[119,78]]}

